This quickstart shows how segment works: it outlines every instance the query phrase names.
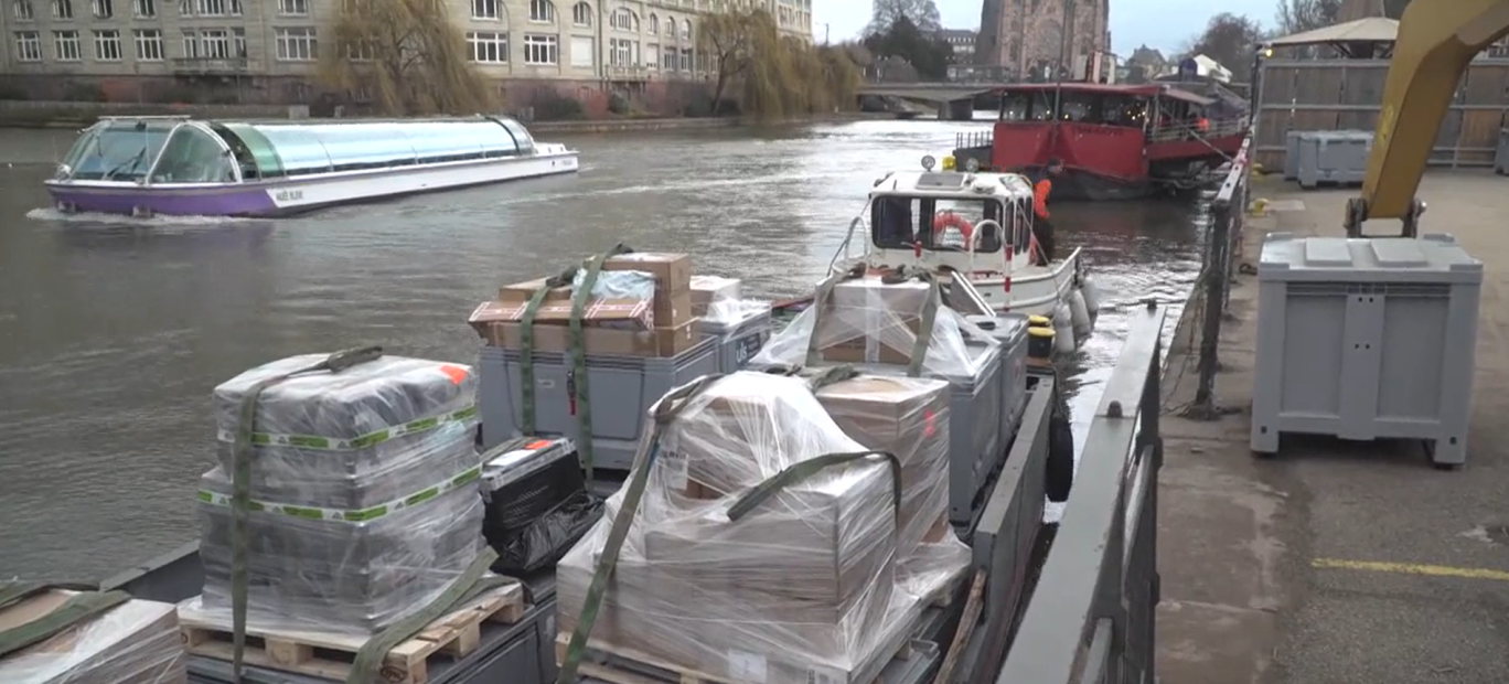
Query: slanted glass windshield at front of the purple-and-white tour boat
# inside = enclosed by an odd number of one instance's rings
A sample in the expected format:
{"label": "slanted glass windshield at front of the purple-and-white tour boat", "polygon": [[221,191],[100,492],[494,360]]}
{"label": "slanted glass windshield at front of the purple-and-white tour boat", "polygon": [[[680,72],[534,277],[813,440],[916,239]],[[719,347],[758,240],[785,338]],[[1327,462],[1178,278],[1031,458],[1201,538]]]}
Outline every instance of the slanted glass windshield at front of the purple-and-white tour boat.
{"label": "slanted glass windshield at front of the purple-and-white tour boat", "polygon": [[63,157],[69,180],[137,181],[146,177],[180,121],[101,121]]}

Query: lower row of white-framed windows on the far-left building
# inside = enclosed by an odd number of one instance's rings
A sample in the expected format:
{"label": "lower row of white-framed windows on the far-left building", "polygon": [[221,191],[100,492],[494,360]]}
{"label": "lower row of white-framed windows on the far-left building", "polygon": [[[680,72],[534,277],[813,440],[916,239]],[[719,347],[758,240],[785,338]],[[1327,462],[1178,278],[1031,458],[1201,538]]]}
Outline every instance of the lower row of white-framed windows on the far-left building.
{"label": "lower row of white-framed windows on the far-left building", "polygon": [[[94,44],[92,57],[98,62],[119,62],[125,51],[119,30],[104,29],[89,32]],[[131,32],[137,62],[160,62],[167,57],[163,47],[163,32],[137,29]],[[278,59],[284,62],[312,62],[318,41],[311,27],[276,29]],[[54,30],[53,59],[78,62],[85,59],[83,32]],[[20,30],[15,33],[15,56],[18,62],[41,62],[44,59],[42,33]],[[246,33],[241,29],[199,29],[183,33],[183,56],[187,59],[244,59]]]}

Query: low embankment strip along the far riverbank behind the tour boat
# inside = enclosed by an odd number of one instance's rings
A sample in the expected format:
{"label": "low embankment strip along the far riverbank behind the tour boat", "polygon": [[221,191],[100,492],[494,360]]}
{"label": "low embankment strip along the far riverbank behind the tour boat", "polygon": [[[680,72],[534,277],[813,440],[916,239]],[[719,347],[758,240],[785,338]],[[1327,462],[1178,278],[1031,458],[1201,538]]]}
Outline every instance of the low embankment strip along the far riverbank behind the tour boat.
{"label": "low embankment strip along the far riverbank behind the tour boat", "polygon": [[[308,116],[308,107],[278,107],[261,104],[133,104],[133,103],[68,103],[0,100],[0,128],[81,128],[101,116],[169,116],[189,115],[205,119],[297,119]],[[625,133],[659,130],[727,128],[738,125],[780,125],[818,121],[854,121],[893,118],[886,113],[837,112],[776,122],[750,118],[613,118],[593,121],[536,121],[534,133]]]}

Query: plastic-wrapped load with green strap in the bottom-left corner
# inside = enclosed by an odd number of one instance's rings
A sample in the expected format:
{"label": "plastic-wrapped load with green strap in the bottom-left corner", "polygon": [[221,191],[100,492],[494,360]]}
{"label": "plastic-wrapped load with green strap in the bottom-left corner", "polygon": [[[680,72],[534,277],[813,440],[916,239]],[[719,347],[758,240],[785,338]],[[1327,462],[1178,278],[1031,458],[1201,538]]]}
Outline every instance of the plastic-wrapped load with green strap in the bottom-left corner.
{"label": "plastic-wrapped load with green strap in the bottom-left corner", "polygon": [[[0,631],[57,610],[53,590],[0,612]],[[172,604],[130,599],[0,658],[6,684],[181,684],[189,678]]]}

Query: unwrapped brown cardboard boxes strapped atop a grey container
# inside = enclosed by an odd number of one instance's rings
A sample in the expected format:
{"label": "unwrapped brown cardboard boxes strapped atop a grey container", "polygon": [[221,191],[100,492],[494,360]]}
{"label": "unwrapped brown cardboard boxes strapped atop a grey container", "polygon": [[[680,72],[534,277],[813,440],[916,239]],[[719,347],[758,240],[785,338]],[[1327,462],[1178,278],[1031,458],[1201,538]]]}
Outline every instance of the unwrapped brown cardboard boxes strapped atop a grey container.
{"label": "unwrapped brown cardboard boxes strapped atop a grey container", "polygon": [[[614,287],[632,284],[635,275],[647,287]],[[487,344],[519,349],[528,302],[546,287],[545,278],[504,285],[498,299],[472,311],[469,322]],[[573,285],[546,291],[534,317],[534,350],[570,349],[572,311]],[[700,340],[693,314],[691,258],[661,252],[608,257],[581,322],[582,344],[593,355],[676,356],[691,349]]]}

